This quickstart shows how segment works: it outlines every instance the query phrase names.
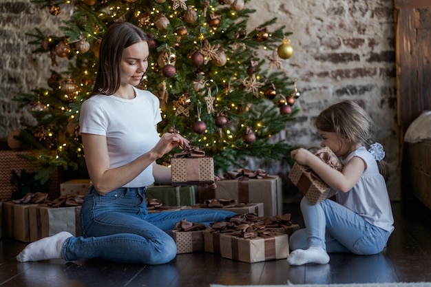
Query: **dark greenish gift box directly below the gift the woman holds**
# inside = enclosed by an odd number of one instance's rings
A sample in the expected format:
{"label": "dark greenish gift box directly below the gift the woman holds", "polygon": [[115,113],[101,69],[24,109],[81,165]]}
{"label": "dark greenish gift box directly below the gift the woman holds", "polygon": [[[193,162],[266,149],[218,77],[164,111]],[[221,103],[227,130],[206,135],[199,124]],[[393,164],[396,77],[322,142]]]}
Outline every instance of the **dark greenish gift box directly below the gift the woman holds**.
{"label": "dark greenish gift box directly below the gift the woman holds", "polygon": [[157,185],[148,187],[145,197],[161,200],[165,206],[185,206],[196,204],[198,195],[194,186]]}

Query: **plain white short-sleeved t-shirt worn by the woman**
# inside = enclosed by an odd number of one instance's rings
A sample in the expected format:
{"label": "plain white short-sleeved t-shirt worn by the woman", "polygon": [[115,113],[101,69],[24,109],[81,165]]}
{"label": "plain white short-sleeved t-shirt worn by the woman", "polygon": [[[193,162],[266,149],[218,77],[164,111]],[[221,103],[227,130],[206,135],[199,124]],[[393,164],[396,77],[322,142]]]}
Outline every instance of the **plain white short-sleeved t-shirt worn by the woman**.
{"label": "plain white short-sleeved t-shirt worn by the woman", "polygon": [[[156,130],[162,120],[158,98],[151,92],[134,89],[136,97],[133,99],[95,95],[81,107],[81,133],[106,136],[110,168],[132,162],[160,140]],[[123,187],[147,187],[153,183],[150,164]]]}

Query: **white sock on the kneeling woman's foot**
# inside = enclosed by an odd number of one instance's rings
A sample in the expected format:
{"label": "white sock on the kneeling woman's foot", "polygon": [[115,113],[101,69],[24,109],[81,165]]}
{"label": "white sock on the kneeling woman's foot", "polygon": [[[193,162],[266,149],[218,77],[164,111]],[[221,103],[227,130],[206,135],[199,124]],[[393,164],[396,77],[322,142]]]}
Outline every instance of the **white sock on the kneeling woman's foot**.
{"label": "white sock on the kneeling woman's foot", "polygon": [[64,242],[72,236],[71,233],[62,231],[56,235],[32,242],[17,255],[17,260],[19,262],[28,262],[62,258]]}

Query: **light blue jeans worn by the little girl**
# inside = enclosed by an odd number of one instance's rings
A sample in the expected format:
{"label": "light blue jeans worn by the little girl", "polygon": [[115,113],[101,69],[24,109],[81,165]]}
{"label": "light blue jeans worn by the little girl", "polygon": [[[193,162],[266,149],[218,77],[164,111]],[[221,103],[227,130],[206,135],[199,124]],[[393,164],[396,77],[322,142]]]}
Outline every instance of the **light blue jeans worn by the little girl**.
{"label": "light blue jeans worn by the little girl", "polygon": [[289,246],[292,250],[319,246],[327,253],[372,255],[383,251],[388,242],[388,231],[370,224],[361,215],[333,200],[312,205],[303,198],[301,211],[306,228],[291,235]]}

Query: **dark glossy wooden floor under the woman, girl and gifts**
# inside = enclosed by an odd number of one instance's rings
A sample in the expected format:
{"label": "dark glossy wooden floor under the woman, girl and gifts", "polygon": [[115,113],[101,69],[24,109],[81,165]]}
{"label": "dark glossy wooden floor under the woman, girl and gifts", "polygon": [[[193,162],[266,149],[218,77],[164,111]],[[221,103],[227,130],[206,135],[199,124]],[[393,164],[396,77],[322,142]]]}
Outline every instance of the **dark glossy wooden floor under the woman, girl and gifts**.
{"label": "dark glossy wooden floor under the woman, girl and gifts", "polygon": [[[297,204],[286,204],[302,224]],[[25,244],[0,240],[0,286],[119,287],[342,284],[431,281],[431,211],[416,200],[392,204],[395,231],[379,255],[331,254],[329,264],[288,266],[285,259],[247,264],[212,253],[178,255],[169,264],[117,264],[101,259],[19,263]]]}

